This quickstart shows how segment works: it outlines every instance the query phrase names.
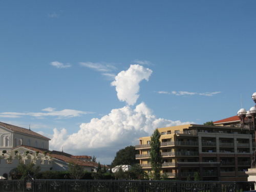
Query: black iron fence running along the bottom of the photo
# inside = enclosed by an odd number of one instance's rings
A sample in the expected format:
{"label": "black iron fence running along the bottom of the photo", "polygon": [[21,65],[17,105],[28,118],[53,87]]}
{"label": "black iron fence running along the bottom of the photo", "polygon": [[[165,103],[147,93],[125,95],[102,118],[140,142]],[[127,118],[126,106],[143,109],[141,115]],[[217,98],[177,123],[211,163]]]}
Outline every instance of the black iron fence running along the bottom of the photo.
{"label": "black iron fence running along the bottom of the photo", "polygon": [[243,192],[255,182],[131,180],[0,180],[0,191],[30,192]]}

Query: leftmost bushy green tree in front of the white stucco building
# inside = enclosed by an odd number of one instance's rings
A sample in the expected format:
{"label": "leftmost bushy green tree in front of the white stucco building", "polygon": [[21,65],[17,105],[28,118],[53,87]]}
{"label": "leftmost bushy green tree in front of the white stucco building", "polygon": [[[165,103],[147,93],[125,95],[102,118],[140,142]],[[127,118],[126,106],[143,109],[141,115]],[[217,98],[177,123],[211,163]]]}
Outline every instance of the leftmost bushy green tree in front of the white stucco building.
{"label": "leftmost bushy green tree in front of the white stucco building", "polygon": [[39,165],[35,167],[35,163],[32,160],[28,164],[25,164],[24,161],[20,160],[16,170],[18,174],[22,174],[21,179],[24,179],[28,174],[30,174],[32,177],[36,177],[36,175],[40,172],[41,167]]}

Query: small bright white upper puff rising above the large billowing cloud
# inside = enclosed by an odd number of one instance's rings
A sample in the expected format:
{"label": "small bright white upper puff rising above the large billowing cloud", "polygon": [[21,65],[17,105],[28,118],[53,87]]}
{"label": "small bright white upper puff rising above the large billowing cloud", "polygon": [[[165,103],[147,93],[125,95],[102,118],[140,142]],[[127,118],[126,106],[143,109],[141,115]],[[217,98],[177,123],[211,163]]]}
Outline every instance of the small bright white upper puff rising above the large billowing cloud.
{"label": "small bright white upper puff rising above the large billowing cloud", "polygon": [[131,65],[127,71],[121,71],[115,81],[111,83],[116,86],[117,97],[120,101],[125,101],[129,105],[134,105],[139,98],[139,82],[143,79],[148,81],[152,70],[140,65]]}

